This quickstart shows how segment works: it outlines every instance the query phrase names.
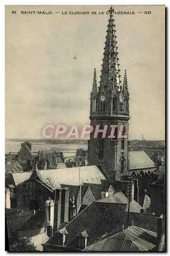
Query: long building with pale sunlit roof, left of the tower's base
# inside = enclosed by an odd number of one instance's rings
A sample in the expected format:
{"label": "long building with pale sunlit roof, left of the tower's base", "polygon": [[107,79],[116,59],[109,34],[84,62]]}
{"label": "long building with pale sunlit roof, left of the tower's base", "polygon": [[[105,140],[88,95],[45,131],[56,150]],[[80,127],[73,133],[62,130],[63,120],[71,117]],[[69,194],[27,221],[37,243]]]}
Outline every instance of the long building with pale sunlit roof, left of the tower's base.
{"label": "long building with pale sunlit roof, left of the tower's base", "polygon": [[98,185],[97,193],[101,198],[102,191],[111,189],[108,183],[96,166],[49,170],[35,167],[32,172],[13,173],[6,179],[6,205],[10,200],[11,208],[44,211],[45,201],[50,197],[55,202],[58,228],[60,223],[68,222],[70,216],[77,215],[82,205],[87,206],[96,200],[87,184]]}

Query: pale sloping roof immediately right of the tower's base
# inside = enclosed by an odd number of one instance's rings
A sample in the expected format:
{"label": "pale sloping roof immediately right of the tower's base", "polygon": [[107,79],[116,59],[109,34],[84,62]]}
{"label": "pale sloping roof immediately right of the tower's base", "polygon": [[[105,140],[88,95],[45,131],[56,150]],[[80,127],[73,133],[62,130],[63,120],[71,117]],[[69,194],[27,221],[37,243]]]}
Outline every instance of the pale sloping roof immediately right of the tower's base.
{"label": "pale sloping roof immediately right of the tower's base", "polygon": [[130,152],[130,170],[155,167],[155,163],[144,151]]}

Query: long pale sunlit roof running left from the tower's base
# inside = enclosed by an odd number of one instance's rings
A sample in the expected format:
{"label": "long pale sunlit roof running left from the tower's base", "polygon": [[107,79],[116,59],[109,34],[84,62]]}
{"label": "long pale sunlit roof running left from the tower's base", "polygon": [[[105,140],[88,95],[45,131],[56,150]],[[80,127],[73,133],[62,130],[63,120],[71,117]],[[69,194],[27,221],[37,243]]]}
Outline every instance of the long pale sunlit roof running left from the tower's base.
{"label": "long pale sunlit roof running left from the tower's base", "polygon": [[[8,179],[7,184],[14,184],[17,186],[28,180],[33,172],[13,173],[12,181]],[[40,181],[53,189],[61,188],[63,185],[79,186],[83,183],[102,184],[103,181],[107,181],[104,175],[100,172],[99,168],[95,165],[81,166],[74,168],[63,169],[47,169],[37,170],[37,175]],[[10,182],[8,182],[10,180]]]}

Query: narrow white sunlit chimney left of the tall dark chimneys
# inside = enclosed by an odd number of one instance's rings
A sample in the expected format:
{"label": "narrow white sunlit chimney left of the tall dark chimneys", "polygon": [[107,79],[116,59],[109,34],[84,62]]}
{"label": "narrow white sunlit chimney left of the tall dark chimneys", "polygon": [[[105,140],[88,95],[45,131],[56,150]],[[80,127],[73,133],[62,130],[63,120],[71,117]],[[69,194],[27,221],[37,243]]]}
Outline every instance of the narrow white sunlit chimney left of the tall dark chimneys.
{"label": "narrow white sunlit chimney left of the tall dark chimneys", "polygon": [[51,238],[54,231],[54,201],[50,197],[45,202],[45,221],[46,234]]}

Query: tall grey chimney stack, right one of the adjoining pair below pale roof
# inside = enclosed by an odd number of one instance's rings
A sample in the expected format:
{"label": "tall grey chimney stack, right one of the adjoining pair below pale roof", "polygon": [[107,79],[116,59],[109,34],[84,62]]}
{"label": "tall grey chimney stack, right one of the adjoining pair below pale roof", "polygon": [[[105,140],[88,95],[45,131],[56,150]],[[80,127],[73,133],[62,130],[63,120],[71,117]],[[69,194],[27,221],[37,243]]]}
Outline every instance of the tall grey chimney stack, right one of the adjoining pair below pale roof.
{"label": "tall grey chimney stack, right one of the adjoining pair below pale roof", "polygon": [[69,188],[61,190],[61,223],[68,222]]}

